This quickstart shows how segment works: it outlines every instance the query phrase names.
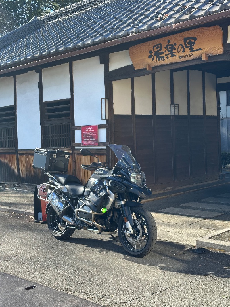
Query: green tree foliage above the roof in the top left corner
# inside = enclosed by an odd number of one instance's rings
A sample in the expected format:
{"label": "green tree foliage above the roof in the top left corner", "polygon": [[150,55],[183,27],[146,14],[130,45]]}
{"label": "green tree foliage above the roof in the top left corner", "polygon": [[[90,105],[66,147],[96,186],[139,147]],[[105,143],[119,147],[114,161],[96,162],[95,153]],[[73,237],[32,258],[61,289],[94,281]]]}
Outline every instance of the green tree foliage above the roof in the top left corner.
{"label": "green tree foliage above the roof in the top left corner", "polygon": [[[13,17],[15,27],[19,27],[34,16],[42,16],[53,10],[58,10],[64,6],[78,2],[79,0],[0,0],[0,6],[10,13]],[[1,16],[0,16],[1,17]],[[0,20],[0,33],[1,20]]]}

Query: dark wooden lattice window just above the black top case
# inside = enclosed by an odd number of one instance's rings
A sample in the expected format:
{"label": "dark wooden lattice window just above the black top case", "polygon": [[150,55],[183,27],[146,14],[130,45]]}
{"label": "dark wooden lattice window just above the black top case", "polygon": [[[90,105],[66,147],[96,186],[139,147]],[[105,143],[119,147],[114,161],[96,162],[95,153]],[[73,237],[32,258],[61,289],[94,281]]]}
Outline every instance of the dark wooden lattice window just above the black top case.
{"label": "dark wooden lattice window just above the black top case", "polygon": [[43,147],[71,147],[70,99],[44,102],[43,114]]}

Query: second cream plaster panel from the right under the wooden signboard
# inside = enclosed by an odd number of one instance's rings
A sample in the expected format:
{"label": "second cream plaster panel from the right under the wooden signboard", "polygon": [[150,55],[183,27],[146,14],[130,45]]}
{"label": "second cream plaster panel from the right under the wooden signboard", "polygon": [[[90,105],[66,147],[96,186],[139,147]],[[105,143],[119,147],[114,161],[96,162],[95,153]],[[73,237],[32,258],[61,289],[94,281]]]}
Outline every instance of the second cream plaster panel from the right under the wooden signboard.
{"label": "second cream plaster panel from the right under the wooden signboard", "polygon": [[189,71],[190,115],[203,115],[202,72]]}

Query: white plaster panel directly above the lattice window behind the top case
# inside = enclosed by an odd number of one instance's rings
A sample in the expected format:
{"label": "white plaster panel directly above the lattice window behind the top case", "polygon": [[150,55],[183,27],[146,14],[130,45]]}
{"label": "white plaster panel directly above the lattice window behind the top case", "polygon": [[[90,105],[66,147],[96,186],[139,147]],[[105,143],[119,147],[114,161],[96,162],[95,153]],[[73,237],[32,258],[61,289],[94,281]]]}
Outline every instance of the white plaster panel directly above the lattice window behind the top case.
{"label": "white plaster panel directly above the lattice window behind the top case", "polygon": [[70,98],[69,64],[42,69],[43,100]]}

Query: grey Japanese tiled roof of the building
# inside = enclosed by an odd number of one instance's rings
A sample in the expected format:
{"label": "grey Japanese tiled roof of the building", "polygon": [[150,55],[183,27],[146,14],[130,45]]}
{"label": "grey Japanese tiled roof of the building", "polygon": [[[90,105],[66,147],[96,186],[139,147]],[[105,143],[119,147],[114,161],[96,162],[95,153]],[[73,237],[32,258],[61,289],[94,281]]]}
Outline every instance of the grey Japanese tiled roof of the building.
{"label": "grey Japanese tiled roof of the building", "polygon": [[230,0],[83,0],[0,37],[0,66],[134,35],[230,9]]}

